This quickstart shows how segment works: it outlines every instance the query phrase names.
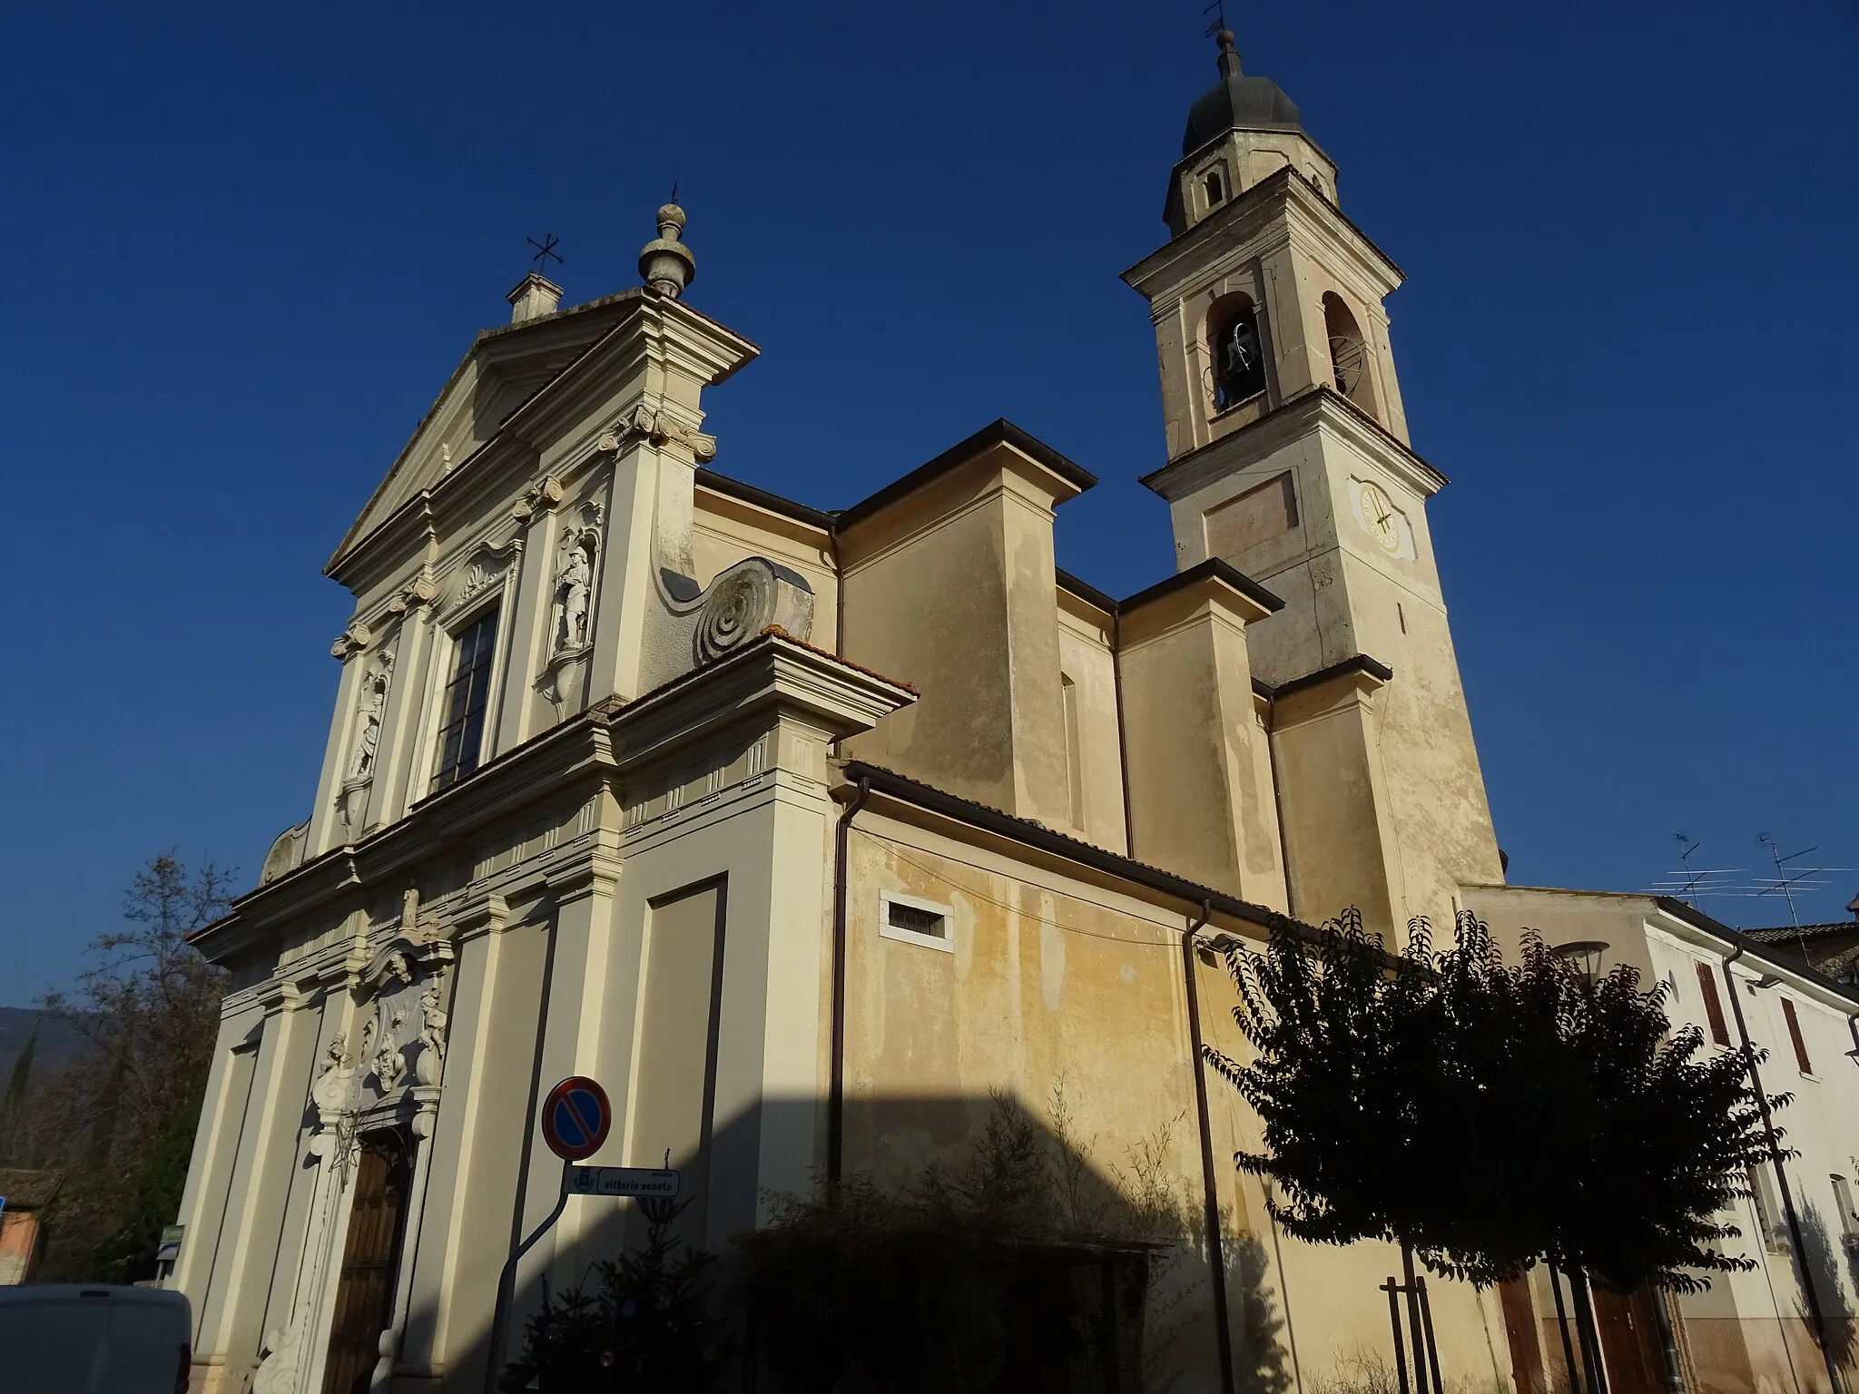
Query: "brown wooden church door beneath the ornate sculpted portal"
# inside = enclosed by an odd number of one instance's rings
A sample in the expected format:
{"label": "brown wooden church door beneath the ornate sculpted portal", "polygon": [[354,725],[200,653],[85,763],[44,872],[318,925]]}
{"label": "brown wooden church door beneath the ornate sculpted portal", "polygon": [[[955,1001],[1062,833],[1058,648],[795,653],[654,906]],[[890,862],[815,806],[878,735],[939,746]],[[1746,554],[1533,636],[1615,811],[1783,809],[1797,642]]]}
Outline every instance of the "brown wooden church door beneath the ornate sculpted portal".
{"label": "brown wooden church door beneath the ornate sculpted portal", "polygon": [[400,1268],[409,1178],[407,1149],[398,1134],[370,1132],[363,1138],[329,1323],[323,1394],[368,1394],[368,1379],[381,1359],[381,1333],[394,1316],[394,1271]]}

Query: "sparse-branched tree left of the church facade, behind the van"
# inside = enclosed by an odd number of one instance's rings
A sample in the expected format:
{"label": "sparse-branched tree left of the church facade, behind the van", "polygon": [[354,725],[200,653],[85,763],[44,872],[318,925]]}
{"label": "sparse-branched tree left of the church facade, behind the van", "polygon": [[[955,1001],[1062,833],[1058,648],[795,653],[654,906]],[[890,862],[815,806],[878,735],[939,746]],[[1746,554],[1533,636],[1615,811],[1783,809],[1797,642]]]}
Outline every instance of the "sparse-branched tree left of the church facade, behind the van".
{"label": "sparse-branched tree left of the church facade, behind the van", "polygon": [[67,1173],[46,1277],[152,1273],[180,1208],[225,987],[188,935],[225,911],[231,881],[214,862],[154,857],[125,894],[130,927],[99,935],[76,989],[45,998],[89,1041],[32,1104],[33,1160]]}

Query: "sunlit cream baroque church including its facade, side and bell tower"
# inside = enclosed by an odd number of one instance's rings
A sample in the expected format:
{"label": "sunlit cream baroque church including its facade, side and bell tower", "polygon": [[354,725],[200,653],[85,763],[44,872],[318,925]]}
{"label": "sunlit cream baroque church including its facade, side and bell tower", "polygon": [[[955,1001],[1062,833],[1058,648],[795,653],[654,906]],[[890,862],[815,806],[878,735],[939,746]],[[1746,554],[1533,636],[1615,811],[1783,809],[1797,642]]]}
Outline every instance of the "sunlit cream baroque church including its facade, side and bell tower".
{"label": "sunlit cream baroque church including its facade, side and bell tower", "polygon": [[[1175,574],[1125,598],[1054,563],[1095,480],[1004,420],[840,511],[714,467],[705,392],[757,348],[686,299],[680,208],[641,286],[511,292],[327,567],[355,610],[309,818],[197,940],[232,987],[169,1277],[195,1390],[489,1388],[543,1279],[632,1223],[571,1199],[500,1320],[569,1074],[613,1102],[593,1162],[669,1160],[718,1253],[822,1178],[959,1164],[1011,1097],[1205,1217],[1171,1388],[1244,1383],[1262,1299],[1299,1385],[1387,1340],[1398,1258],[1272,1234],[1199,1046],[1238,1048],[1223,944],[1504,890],[1446,480],[1400,270],[1231,35],[1166,219],[1125,279]],[[1513,1305],[1439,1284],[1433,1320],[1450,1381],[1524,1383]]]}

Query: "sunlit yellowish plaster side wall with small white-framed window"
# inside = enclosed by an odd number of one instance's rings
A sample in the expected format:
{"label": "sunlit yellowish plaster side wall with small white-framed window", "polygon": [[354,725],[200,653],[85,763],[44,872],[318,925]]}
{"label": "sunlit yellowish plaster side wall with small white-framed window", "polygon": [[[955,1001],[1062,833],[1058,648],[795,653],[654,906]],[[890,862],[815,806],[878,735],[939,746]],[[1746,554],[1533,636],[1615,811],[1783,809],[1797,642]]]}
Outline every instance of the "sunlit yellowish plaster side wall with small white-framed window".
{"label": "sunlit yellowish plaster side wall with small white-framed window", "polygon": [[[885,937],[881,892],[946,905],[948,948]],[[848,1173],[883,1186],[905,1186],[930,1165],[959,1173],[1002,1095],[1048,1143],[1084,1152],[1076,1193],[1101,1206],[1099,1216],[1117,1216],[1117,1195],[1156,1188],[1199,1223],[1182,970],[1192,914],[985,838],[956,838],[889,810],[861,814],[848,916]],[[1260,933],[1218,916],[1212,927]],[[1203,1037],[1244,1054],[1225,968],[1195,957],[1193,983]],[[1398,1271],[1398,1255],[1385,1245],[1316,1249],[1275,1234],[1264,1195],[1231,1164],[1234,1151],[1259,1145],[1257,1117],[1212,1074],[1208,1104],[1240,1387],[1260,1361],[1247,1305],[1253,1316],[1288,1316],[1288,1331],[1273,1336],[1288,1375],[1307,1388],[1346,1379],[1361,1349],[1387,1344],[1378,1284]],[[1504,1383],[1495,1364],[1502,1327],[1491,1325],[1489,1307],[1461,1284],[1433,1288],[1448,1381]],[[1188,1245],[1153,1295],[1145,1336],[1162,1364],[1179,1370],[1180,1383],[1167,1385],[1179,1394],[1218,1387],[1212,1322],[1205,1249]]]}

